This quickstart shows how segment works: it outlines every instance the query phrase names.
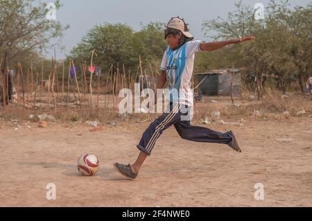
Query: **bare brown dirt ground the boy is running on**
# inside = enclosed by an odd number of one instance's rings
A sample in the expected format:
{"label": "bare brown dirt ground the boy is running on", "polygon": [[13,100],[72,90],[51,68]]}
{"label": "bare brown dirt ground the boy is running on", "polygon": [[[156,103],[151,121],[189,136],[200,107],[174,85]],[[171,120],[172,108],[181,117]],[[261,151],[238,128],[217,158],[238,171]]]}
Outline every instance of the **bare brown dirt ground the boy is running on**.
{"label": "bare brown dirt ground the boy is running on", "polygon": [[[226,145],[184,141],[169,128],[132,182],[112,164],[135,160],[148,124],[120,122],[89,132],[83,123],[43,129],[24,122],[15,130],[1,121],[0,206],[312,206],[311,116],[204,125],[234,130],[241,154]],[[79,175],[76,161],[83,153],[100,160],[96,176]],[[56,200],[46,200],[49,183]],[[264,200],[255,200],[258,183]]]}

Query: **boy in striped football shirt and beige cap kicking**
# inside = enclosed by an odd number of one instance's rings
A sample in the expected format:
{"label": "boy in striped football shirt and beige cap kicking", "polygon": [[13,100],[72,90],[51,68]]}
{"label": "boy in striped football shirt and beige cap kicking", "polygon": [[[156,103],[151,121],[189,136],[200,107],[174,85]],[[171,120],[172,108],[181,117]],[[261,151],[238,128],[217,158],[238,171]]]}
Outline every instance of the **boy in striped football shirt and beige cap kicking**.
{"label": "boy in striped football shirt and beige cap kicking", "polygon": [[189,109],[193,104],[193,96],[189,96],[189,91],[191,89],[190,82],[193,74],[195,53],[199,51],[215,51],[229,44],[238,44],[255,39],[255,37],[248,36],[241,39],[211,43],[194,41],[184,19],[175,17],[166,26],[165,39],[168,43],[168,48],[162,60],[161,75],[157,82],[157,89],[162,89],[166,80],[168,80],[169,90],[175,89],[180,93],[178,95],[170,94],[168,98],[170,111],[159,116],[144,132],[141,141],[137,145],[137,148],[140,150],[137,161],[128,166],[114,163],[114,168],[118,173],[132,180],[139,174],[146,157],[150,156],[156,140],[171,125],[175,126],[177,133],[182,139],[205,143],[223,143],[229,145],[237,152],[241,152],[239,143],[232,131],[223,134],[206,127],[192,126],[189,119],[184,118],[186,114],[189,114],[189,111],[185,112],[182,110]]}

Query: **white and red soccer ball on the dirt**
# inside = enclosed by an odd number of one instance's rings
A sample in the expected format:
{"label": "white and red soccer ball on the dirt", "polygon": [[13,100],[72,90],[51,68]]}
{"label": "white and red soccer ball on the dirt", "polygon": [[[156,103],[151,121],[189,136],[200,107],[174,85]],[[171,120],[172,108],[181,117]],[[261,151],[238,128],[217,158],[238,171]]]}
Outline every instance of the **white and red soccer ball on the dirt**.
{"label": "white and red soccer ball on the dirt", "polygon": [[78,171],[85,176],[93,176],[98,172],[100,163],[96,156],[90,154],[83,154],[78,159],[77,163]]}

